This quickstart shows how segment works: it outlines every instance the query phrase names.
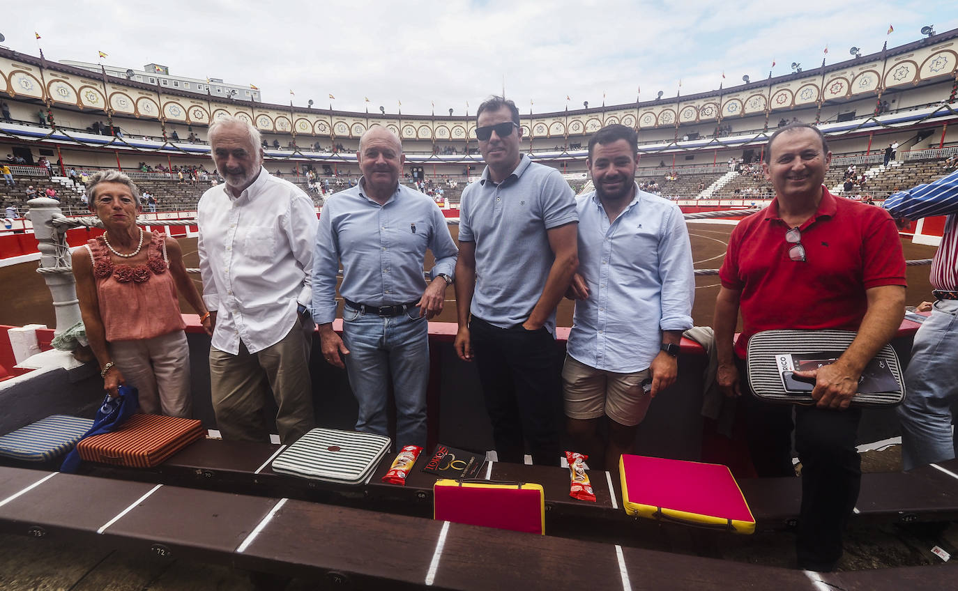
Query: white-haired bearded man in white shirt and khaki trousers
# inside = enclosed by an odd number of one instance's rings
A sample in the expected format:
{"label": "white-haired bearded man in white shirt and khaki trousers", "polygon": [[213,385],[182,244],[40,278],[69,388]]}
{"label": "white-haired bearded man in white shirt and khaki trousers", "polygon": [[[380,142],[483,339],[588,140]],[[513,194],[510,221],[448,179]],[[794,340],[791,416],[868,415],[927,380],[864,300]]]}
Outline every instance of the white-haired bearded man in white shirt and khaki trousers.
{"label": "white-haired bearded man in white shirt and khaki trousers", "polygon": [[210,390],[224,439],[264,441],[267,399],[292,443],[315,424],[309,352],[312,201],[262,168],[260,132],[226,118],[209,140],[225,183],[199,200],[199,268],[213,319]]}

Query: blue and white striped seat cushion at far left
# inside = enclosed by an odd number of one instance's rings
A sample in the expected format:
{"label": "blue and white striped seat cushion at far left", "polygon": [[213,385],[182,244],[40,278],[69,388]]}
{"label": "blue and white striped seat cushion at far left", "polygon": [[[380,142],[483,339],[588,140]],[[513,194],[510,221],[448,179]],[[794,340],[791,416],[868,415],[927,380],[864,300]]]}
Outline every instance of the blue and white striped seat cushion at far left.
{"label": "blue and white striped seat cushion at far left", "polygon": [[46,462],[70,451],[91,426],[92,419],[53,415],[0,437],[0,456]]}

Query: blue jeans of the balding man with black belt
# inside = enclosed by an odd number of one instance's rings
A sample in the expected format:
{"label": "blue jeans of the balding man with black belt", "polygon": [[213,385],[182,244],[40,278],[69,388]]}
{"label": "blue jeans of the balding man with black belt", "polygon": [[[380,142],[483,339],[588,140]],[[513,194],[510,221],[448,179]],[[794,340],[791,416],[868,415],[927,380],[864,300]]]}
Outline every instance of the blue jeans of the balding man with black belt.
{"label": "blue jeans of the balding man with black belt", "polygon": [[346,371],[359,404],[356,431],[388,435],[389,378],[396,398],[396,444],[425,447],[425,389],[429,382],[429,326],[420,308],[380,318],[343,308]]}

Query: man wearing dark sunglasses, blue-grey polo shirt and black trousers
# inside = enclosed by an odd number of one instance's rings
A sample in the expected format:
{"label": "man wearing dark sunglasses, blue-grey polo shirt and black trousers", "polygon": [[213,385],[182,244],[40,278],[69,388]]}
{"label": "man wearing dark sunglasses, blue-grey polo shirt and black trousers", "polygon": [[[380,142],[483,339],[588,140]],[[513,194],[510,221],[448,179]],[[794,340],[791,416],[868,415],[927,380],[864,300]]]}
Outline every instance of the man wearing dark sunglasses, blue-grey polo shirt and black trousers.
{"label": "man wearing dark sunglasses, blue-grey polo shirt and black trousers", "polygon": [[[498,459],[559,466],[556,306],[579,265],[576,202],[559,170],[519,153],[515,103],[476,113],[486,161],[462,196],[456,301],[459,357],[478,366]],[[471,314],[471,318],[470,318]]]}

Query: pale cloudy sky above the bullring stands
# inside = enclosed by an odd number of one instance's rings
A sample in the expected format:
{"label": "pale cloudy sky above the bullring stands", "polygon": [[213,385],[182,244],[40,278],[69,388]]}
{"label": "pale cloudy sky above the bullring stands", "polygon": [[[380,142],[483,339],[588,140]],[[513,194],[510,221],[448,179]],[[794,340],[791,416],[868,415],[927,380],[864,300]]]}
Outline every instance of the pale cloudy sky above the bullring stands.
{"label": "pale cloudy sky above the bullring stands", "polygon": [[[886,35],[888,26],[894,33]],[[523,112],[651,100],[834,63],[958,28],[954,0],[50,0],[8,14],[2,44],[48,59],[256,84],[265,102],[469,113],[505,85]],[[828,55],[823,50],[828,47]],[[290,96],[289,91],[295,92]],[[330,100],[329,95],[335,100]],[[366,103],[368,97],[370,102]],[[530,105],[530,102],[533,102]]]}

